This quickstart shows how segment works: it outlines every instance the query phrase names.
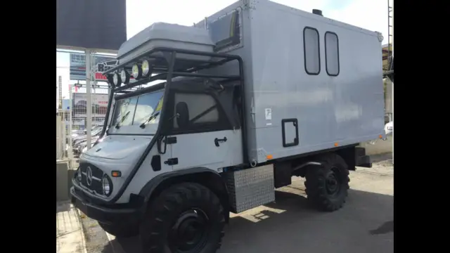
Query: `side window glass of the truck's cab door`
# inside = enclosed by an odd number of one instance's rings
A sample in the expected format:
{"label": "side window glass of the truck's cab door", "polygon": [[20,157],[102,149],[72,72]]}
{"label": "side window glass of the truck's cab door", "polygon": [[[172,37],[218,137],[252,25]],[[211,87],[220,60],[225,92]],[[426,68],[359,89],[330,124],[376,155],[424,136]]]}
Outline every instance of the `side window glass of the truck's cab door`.
{"label": "side window glass of the truck's cab door", "polygon": [[189,120],[186,126],[179,126],[178,120],[174,120],[174,129],[210,129],[219,123],[219,110],[212,96],[204,93],[175,93],[175,110],[179,103],[186,103]]}

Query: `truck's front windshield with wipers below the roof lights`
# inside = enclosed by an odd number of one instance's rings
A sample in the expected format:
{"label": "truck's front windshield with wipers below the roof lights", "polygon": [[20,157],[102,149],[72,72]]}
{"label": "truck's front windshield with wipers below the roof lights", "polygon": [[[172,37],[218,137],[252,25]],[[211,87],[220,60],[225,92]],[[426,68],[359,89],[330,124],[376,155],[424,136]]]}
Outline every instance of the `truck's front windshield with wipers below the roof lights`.
{"label": "truck's front windshield with wipers below the roof lights", "polygon": [[[163,96],[164,91],[159,90],[140,96],[117,100],[110,129],[113,130],[113,133],[150,129],[146,133],[155,134],[156,129],[158,129],[158,123],[160,122],[158,112],[162,108]],[[152,117],[152,115],[154,116]],[[150,117],[151,119],[148,121]],[[134,127],[129,128],[127,126]]]}

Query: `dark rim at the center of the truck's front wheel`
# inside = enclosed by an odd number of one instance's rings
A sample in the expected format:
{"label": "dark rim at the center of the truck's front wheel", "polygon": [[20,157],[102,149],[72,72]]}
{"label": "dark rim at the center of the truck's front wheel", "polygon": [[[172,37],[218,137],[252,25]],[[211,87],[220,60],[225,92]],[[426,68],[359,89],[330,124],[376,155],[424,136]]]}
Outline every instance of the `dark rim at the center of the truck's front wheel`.
{"label": "dark rim at the center of the truck's front wheel", "polygon": [[172,252],[198,252],[205,246],[208,230],[207,216],[200,209],[182,213],[169,232]]}

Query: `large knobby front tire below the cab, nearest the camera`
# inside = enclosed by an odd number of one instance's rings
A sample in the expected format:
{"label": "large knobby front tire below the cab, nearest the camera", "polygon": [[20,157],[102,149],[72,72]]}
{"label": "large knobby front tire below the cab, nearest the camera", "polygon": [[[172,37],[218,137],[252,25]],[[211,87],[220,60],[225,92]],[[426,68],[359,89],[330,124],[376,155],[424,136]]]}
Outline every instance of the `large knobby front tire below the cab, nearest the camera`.
{"label": "large knobby front tire below the cab, nearest the camera", "polygon": [[224,236],[225,216],[219,198],[198,183],[164,190],[141,222],[143,253],[214,253]]}

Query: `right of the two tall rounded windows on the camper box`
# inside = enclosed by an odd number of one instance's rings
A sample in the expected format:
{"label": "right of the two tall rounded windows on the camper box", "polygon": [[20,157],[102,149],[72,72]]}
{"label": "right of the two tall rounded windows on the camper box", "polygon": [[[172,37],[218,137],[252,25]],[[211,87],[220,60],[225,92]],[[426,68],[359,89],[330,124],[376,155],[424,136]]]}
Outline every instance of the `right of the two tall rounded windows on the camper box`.
{"label": "right of the two tall rounded windows on the camper box", "polygon": [[326,72],[331,77],[339,74],[339,39],[334,32],[325,33]]}

